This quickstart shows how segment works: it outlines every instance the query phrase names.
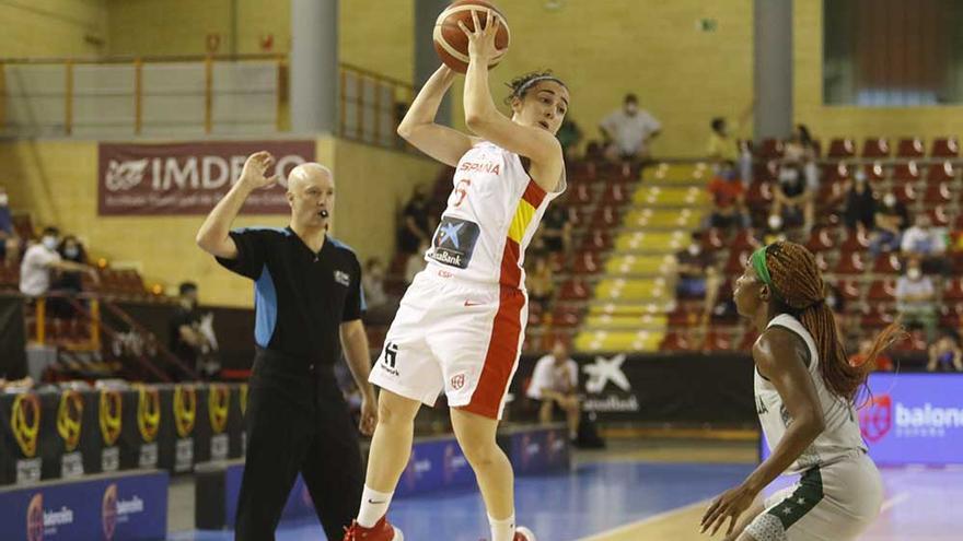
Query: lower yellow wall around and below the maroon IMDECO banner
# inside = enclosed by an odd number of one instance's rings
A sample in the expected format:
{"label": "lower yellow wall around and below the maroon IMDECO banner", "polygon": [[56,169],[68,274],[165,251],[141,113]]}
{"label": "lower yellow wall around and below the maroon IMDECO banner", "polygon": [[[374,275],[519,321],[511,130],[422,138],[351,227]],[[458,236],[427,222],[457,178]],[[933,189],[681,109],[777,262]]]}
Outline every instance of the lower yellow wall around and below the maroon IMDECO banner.
{"label": "lower yellow wall around and below the maroon IMDECO banner", "polygon": [[[394,250],[394,216],[415,184],[434,178],[430,161],[333,138],[317,141],[317,160],[332,165],[337,186],[334,235],[363,261],[387,260]],[[251,306],[247,280],[223,271],[200,251],[194,237],[204,216],[102,217],[97,215],[95,141],[36,140],[0,143],[4,186],[11,205],[32,212],[42,227],[58,225],[91,247],[93,258],[137,266],[148,285],[183,280],[200,286],[201,302]],[[376,189],[372,184],[376,180]],[[287,216],[241,216],[235,226],[285,226]]]}

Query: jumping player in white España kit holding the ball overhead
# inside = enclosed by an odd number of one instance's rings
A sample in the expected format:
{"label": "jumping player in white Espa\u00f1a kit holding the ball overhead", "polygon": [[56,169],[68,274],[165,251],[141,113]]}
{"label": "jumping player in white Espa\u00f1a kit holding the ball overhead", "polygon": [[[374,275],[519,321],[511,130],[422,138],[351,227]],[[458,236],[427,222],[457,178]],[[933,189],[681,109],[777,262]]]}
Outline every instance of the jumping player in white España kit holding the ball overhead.
{"label": "jumping player in white Espa\u00f1a kit holding the ball overhead", "polygon": [[[398,133],[455,167],[448,208],[420,272],[402,299],[371,373],[382,388],[358,520],[346,541],[401,541],[385,513],[411,450],[421,403],[448,397],[459,444],[488,511],[492,541],[534,541],[514,524],[514,474],[495,442],[518,366],[527,319],[524,250],[548,202],[565,189],[555,132],[569,94],[558,79],[532,74],[512,82],[511,119],[495,106],[489,59],[498,22],[475,19],[468,36],[465,121],[474,136],[434,124],[454,73],[442,66],[425,84]],[[431,539],[441,539],[432,537]]]}

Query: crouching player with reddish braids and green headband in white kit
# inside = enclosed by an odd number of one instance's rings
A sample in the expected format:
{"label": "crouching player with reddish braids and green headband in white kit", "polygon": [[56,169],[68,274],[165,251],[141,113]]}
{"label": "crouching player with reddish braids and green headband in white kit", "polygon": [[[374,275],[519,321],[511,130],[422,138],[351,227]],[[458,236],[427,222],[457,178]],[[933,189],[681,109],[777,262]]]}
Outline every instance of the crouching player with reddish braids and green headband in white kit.
{"label": "crouching player with reddish braids and green headband in white kit", "polygon": [[[715,534],[728,520],[727,540],[847,541],[879,515],[882,482],[867,456],[855,401],[875,356],[902,331],[886,328],[869,361],[851,366],[823,291],[812,254],[786,242],[755,251],[735,282],[739,314],[761,333],[753,346],[755,402],[773,454],[712,502],[703,531]],[[784,472],[801,478],[754,504]]]}

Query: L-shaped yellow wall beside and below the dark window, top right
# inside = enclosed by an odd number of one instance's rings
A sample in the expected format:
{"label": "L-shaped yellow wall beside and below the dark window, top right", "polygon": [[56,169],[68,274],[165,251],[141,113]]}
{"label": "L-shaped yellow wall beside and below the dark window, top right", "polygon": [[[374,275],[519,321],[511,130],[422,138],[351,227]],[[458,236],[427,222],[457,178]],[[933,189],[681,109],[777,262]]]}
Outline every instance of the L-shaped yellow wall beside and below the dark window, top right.
{"label": "L-shaped yellow wall beside and below the dark window, top right", "polygon": [[793,115],[813,134],[890,139],[918,136],[927,140],[963,132],[963,107],[847,107],[823,105],[823,2],[793,2]]}

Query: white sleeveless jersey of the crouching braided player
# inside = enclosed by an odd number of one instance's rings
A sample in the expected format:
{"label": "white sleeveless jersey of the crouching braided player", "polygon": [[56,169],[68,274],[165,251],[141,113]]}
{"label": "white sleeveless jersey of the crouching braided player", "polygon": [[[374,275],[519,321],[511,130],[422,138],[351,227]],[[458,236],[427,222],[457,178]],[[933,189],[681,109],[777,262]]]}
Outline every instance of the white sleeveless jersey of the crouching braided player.
{"label": "white sleeveless jersey of the crouching braided player", "polygon": [[[809,349],[810,363],[809,374],[812,377],[813,386],[816,388],[816,395],[820,398],[820,405],[823,409],[823,419],[826,428],[816,439],[802,452],[802,455],[786,470],[787,473],[800,473],[814,466],[825,466],[837,460],[852,456],[857,450],[867,450],[859,431],[859,420],[856,415],[856,409],[848,401],[837,397],[826,387],[823,377],[820,374],[820,363],[822,360],[816,351],[815,341],[812,334],[805,330],[805,327],[798,319],[788,315],[780,314],[769,321],[766,327],[782,327],[788,329],[805,342]],[[759,375],[759,371],[755,371],[755,396],[756,396],[756,413],[759,415],[759,423],[763,425],[763,434],[769,449],[776,448],[779,440],[786,434],[786,428],[792,423],[792,417],[782,403],[782,398],[769,380]]]}

